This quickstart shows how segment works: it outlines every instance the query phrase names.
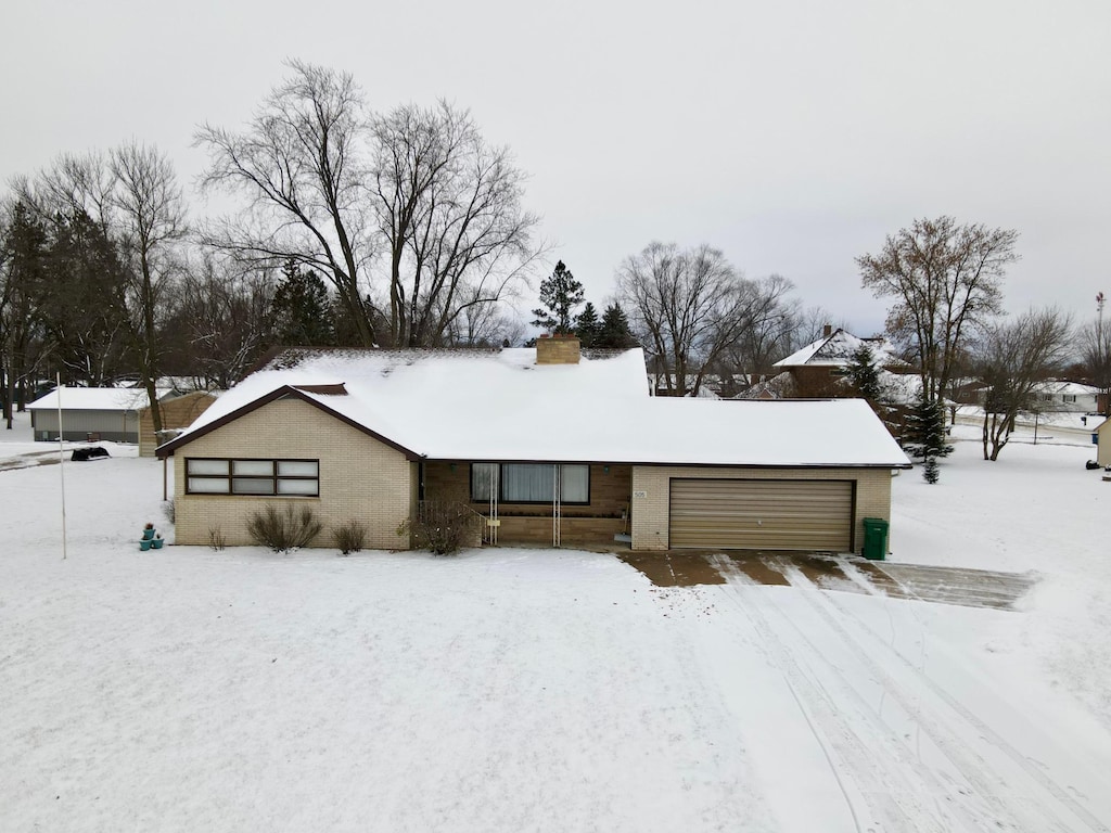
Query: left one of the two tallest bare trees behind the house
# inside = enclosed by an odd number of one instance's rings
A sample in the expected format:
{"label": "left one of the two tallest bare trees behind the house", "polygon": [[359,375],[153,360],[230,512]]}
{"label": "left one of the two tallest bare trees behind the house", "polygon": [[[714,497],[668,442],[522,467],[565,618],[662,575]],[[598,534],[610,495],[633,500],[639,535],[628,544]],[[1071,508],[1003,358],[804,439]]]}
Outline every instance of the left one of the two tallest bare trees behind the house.
{"label": "left one of the two tallest bare trees behind the house", "polygon": [[369,134],[362,92],[347,73],[290,61],[241,133],[206,124],[206,189],[248,200],[244,211],[206,232],[207,242],[258,267],[293,260],[324,274],[350,313],[359,341],[377,341],[367,271],[376,220],[367,198]]}

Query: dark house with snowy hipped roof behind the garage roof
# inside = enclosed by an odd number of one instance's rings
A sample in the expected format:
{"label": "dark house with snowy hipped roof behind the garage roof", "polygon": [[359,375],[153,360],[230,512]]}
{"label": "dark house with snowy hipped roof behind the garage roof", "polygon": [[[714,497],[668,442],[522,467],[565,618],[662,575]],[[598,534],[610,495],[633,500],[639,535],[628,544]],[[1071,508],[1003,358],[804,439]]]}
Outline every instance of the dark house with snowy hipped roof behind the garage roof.
{"label": "dark house with snowy hipped roof behind the garage roof", "polygon": [[[843,391],[842,381],[852,367],[853,355],[867,347],[872,351],[875,367],[889,373],[907,373],[910,367],[895,355],[895,350],[883,337],[861,339],[838,328],[827,325],[818,341],[781,359],[772,367],[790,374],[792,395],[831,397]],[[782,384],[782,382],[780,382]]]}

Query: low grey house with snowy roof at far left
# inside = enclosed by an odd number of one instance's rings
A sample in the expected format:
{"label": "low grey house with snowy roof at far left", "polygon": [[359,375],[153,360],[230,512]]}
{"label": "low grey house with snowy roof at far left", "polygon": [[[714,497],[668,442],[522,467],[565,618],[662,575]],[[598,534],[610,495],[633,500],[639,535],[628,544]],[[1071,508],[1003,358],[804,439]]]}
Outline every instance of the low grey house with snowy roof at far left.
{"label": "low grey house with snowy roof at far left", "polygon": [[[159,390],[159,401],[173,398]],[[149,405],[142,388],[59,388],[27,407],[36,440],[58,439],[61,402],[62,438],[139,442],[139,411]]]}

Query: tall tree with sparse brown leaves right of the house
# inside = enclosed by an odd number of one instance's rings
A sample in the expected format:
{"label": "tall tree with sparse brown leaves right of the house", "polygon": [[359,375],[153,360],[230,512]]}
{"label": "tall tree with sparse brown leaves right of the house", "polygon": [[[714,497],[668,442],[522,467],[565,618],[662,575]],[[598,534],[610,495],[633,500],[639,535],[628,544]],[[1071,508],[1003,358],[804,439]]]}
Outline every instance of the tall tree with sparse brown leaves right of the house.
{"label": "tall tree with sparse brown leaves right of the house", "polygon": [[940,217],[914,220],[879,254],[857,258],[862,284],[894,299],[888,332],[917,360],[930,401],[948,391],[961,342],[1002,311],[1000,283],[1018,260],[1017,239],[1012,230]]}

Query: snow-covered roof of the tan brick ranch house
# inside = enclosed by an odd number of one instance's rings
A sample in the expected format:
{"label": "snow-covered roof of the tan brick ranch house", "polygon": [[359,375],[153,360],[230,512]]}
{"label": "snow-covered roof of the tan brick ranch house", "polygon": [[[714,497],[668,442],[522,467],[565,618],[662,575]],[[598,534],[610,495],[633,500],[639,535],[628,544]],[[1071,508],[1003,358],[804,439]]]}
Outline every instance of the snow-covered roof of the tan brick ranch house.
{"label": "snow-covered roof of the tan brick ranch house", "polygon": [[544,365],[529,349],[279,358],[217,400],[163,451],[281,390],[429,459],[907,464],[862,401],[650,397],[640,349]]}

